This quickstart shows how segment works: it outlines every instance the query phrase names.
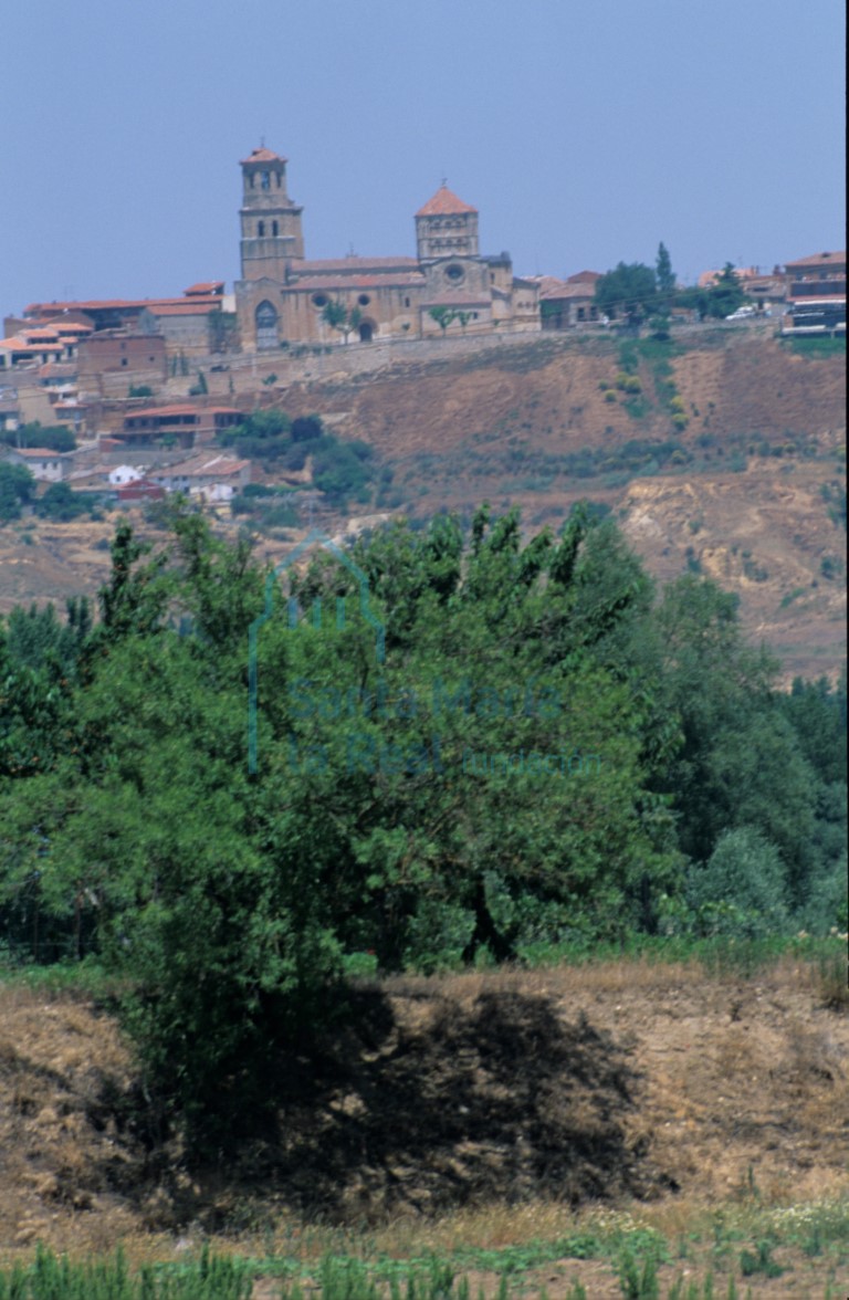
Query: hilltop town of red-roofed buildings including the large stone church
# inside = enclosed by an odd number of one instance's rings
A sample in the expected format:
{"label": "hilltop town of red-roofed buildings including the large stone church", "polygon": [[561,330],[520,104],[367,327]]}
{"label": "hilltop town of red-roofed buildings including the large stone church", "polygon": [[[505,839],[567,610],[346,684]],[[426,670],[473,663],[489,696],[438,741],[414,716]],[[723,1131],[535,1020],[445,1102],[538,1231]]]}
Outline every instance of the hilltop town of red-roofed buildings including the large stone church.
{"label": "hilltop town of red-roofed buildings including the large stone church", "polygon": [[[478,211],[446,182],[415,213],[415,256],[308,259],[286,162],[261,147],[239,164],[231,292],[211,280],[173,298],[30,303],[5,317],[5,460],[36,481],[108,486],[127,502],[183,491],[225,503],[251,464],[222,455],[221,434],[290,384],[624,322],[616,306],[598,304],[601,272],[520,277],[508,252],[481,254]],[[719,276],[706,272],[701,287]],[[845,252],[736,276],[748,306],[729,328],[774,315],[783,332],[845,332]],[[698,318],[685,308],[670,316]],[[68,439],[9,438],[38,425]]]}

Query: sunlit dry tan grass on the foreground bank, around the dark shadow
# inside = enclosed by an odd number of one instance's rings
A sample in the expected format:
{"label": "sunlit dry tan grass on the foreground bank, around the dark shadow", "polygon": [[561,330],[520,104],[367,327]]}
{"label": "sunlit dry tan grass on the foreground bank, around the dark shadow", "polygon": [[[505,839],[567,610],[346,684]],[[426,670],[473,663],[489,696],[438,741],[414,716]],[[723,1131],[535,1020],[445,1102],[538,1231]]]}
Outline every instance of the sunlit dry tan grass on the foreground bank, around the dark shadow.
{"label": "sunlit dry tan grass on the foreground bank, around the dark shadow", "polygon": [[[209,1235],[222,1253],[261,1258],[270,1252],[304,1265],[328,1252],[361,1258],[462,1252],[473,1269],[473,1252],[527,1252],[534,1242],[589,1234],[608,1243],[610,1258],[564,1258],[529,1266],[525,1277],[532,1292],[545,1284],[550,1300],[568,1295],[567,1282],[580,1277],[593,1300],[602,1300],[620,1295],[611,1260],[623,1234],[653,1232],[672,1252],[679,1243],[686,1251],[685,1260],[673,1256],[662,1268],[664,1295],[683,1269],[703,1278],[719,1268],[719,1279],[744,1245],[753,1249],[777,1225],[787,1244],[776,1248],[776,1258],[789,1260],[793,1273],[779,1290],[772,1279],[753,1279],[753,1296],[823,1295],[836,1248],[809,1258],[802,1236],[796,1245],[787,1238],[797,1219],[810,1218],[815,1228],[820,1214],[846,1217],[849,1019],[828,1009],[833,1004],[823,996],[815,965],[784,958],[744,978],[733,968],[707,976],[697,962],[625,959],[403,978],[382,987],[408,1045],[446,1014],[459,1034],[481,996],[503,997],[506,1005],[540,1000],[564,1026],[584,1015],[593,1031],[620,1045],[633,1070],[634,1104],[621,1118],[627,1143],[646,1149],[679,1191],[655,1191],[650,1200],[586,1200],[572,1209],[556,1195],[528,1188],[516,1204],[473,1196],[428,1214],[402,1206],[369,1222],[352,1213],[347,1222],[329,1223],[287,1206],[280,1187],[239,1184],[234,1170],[222,1169],[200,1179],[198,1204],[208,1195],[226,1205],[226,1232],[204,1232],[200,1218],[156,1230],[156,1187],[142,1180],[138,1195],[129,1195],[131,1178],[142,1178],[143,1154],[108,1121],[105,1127],[91,1122],[100,1114],[104,1123],[99,1080],[129,1078],[113,1022],[86,997],[0,987],[0,1262],[29,1257],[38,1239],[75,1256],[108,1252],[121,1240],[134,1264],[181,1260]],[[438,1057],[420,1060],[423,1069],[438,1066]],[[437,1101],[445,1104],[446,1096],[436,1088]],[[579,1095],[571,1104],[576,1124],[590,1130],[595,1114],[584,1115]],[[334,1123],[342,1122],[338,1113]],[[118,1166],[117,1183],[98,1183],[98,1170]],[[179,1178],[189,1180],[189,1171]],[[716,1256],[719,1222],[725,1244]],[[725,1291],[722,1277],[716,1295]],[[491,1273],[481,1278],[486,1294],[494,1292]],[[745,1295],[745,1287],[738,1290]]]}

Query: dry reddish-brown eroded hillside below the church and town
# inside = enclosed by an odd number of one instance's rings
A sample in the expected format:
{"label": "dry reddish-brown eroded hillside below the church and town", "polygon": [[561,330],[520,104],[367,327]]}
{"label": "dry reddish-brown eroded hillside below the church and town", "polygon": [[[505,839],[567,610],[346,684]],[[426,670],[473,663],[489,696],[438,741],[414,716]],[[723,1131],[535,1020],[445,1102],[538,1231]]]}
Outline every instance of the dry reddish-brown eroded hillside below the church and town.
{"label": "dry reddish-brown eroded hillside below the church and town", "polygon": [[[801,351],[768,326],[668,346],[553,335],[277,394],[261,382],[270,361],[215,380],[234,381],[248,408],[317,412],[372,445],[393,482],[363,512],[468,516],[489,499],[520,504],[536,530],[589,498],[659,580],[689,568],[737,592],[785,677],[833,675],[845,656],[845,351],[820,342]],[[0,529],[0,610],[95,590],[113,523]],[[294,536],[263,538],[261,554],[282,556]]]}

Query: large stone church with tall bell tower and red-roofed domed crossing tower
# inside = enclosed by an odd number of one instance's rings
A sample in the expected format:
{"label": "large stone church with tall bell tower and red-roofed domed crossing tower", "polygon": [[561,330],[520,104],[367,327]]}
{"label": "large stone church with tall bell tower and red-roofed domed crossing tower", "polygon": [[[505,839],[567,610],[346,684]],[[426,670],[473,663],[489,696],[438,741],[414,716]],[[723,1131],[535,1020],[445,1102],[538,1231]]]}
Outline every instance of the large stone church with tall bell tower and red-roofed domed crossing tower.
{"label": "large stone church with tall bell tower and red-roofed domed crossing tower", "polygon": [[[354,313],[354,339],[432,338],[540,329],[538,285],[517,280],[506,252],[481,256],[477,209],[446,185],[416,213],[415,257],[304,257],[303,208],[286,187],[286,159],[254,150],[242,166],[242,347],[326,343],[339,334],[329,303]],[[432,315],[436,312],[436,315]]]}

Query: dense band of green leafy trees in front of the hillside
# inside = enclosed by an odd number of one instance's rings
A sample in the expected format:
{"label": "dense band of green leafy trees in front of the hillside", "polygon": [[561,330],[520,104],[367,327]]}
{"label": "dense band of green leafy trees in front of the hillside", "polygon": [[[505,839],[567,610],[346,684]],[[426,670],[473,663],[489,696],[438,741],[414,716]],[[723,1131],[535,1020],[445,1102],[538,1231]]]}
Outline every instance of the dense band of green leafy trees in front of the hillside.
{"label": "dense band of green leafy trees in front of the hillside", "polygon": [[[339,473],[326,434],[289,441]],[[322,552],[294,627],[247,542],[172,521],[156,554],[120,526],[94,628],[18,611],[0,638],[0,922],[117,979],[190,1140],[263,1118],[282,1054],[348,1014],[351,954],[757,937],[820,905],[845,685],[776,698],[736,602],[684,578],[655,608],[610,516],[397,521],[350,552],[372,621]]]}

